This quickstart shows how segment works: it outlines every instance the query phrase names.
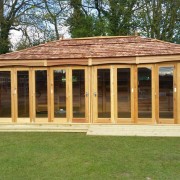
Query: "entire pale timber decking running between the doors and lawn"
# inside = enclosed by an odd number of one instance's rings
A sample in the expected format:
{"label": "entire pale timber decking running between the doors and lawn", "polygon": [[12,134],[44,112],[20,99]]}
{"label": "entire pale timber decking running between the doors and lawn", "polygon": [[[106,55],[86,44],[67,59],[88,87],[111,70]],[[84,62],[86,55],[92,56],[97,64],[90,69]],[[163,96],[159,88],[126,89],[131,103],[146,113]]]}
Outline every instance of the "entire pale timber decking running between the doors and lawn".
{"label": "entire pale timber decking running between the doors and lawn", "polygon": [[80,132],[95,136],[180,137],[180,125],[1,124],[0,132]]}

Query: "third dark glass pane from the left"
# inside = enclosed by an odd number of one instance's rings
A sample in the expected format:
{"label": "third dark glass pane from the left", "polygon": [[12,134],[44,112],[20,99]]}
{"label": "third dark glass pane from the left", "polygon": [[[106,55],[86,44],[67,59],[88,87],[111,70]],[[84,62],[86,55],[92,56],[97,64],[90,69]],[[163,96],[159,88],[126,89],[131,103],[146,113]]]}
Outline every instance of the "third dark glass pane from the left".
{"label": "third dark glass pane from the left", "polygon": [[35,71],[36,117],[48,117],[47,107],[47,71]]}

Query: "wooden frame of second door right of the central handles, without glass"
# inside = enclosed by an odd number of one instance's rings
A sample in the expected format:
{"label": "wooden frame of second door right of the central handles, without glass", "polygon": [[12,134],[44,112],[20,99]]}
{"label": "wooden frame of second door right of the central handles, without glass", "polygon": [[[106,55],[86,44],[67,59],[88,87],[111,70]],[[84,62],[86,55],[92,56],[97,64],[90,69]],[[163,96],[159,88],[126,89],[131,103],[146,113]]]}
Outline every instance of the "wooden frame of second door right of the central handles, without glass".
{"label": "wooden frame of second door right of the central handles, without glass", "polygon": [[[117,91],[117,70],[118,69],[130,69],[130,98],[131,98],[131,117],[130,118],[118,118],[118,91]],[[134,123],[134,66],[133,65],[115,65],[114,66],[114,111],[115,111],[115,123],[131,124]]]}

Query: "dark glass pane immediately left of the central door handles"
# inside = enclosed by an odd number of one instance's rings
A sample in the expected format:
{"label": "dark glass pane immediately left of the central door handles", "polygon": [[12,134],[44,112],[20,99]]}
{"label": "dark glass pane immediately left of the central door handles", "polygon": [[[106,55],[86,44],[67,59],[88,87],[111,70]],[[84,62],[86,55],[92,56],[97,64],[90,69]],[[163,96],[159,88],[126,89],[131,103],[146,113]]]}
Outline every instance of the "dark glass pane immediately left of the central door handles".
{"label": "dark glass pane immediately left of the central door handles", "polygon": [[72,70],[73,118],[85,118],[85,70]]}

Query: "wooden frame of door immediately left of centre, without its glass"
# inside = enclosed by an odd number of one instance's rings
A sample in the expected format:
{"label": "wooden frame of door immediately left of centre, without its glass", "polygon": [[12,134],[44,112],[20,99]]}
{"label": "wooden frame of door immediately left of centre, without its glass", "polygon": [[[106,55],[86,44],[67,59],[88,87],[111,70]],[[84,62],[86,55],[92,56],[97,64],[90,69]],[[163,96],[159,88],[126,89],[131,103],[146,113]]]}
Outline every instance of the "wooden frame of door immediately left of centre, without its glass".
{"label": "wooden frame of door immediately left of centre, without its glass", "polygon": [[[72,86],[72,71],[73,70],[84,70],[85,73],[85,118],[73,118],[73,86]],[[90,123],[91,116],[90,116],[90,68],[87,66],[70,66],[68,67],[68,106],[69,112],[68,112],[68,122],[69,123]],[[87,94],[87,95],[86,95]],[[79,122],[73,122],[73,119],[79,120]],[[84,121],[85,122],[84,122]]]}

